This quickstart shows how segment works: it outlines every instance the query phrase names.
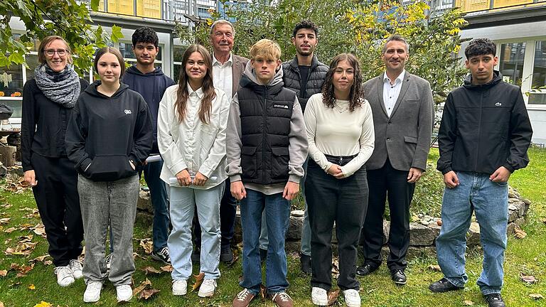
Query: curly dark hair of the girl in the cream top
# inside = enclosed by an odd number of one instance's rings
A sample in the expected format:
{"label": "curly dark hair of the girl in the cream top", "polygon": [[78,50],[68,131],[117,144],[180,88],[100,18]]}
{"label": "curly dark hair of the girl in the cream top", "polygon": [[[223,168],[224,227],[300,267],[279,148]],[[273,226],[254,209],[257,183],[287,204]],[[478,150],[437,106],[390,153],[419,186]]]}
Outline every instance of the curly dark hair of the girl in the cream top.
{"label": "curly dark hair of the girl in the cream top", "polygon": [[328,72],[326,73],[324,85],[322,86],[322,102],[326,104],[326,107],[333,108],[333,105],[336,102],[336,97],[333,93],[333,73],[336,71],[338,63],[343,60],[346,60],[355,70],[353,85],[350,86],[349,94],[349,111],[353,112],[356,107],[360,107],[364,102],[364,90],[362,88],[360,63],[358,62],[358,58],[352,53],[341,53],[340,55],[336,55],[336,58],[333,58],[330,63],[330,69],[328,69]]}

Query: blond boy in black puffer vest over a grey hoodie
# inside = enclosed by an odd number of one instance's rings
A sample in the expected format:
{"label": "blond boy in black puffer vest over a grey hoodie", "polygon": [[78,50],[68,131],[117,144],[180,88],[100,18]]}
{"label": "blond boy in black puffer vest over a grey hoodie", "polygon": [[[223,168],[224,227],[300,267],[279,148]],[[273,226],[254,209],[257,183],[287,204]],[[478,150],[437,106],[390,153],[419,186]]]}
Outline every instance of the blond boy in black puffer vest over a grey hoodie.
{"label": "blond boy in black puffer vest over a grey hoodie", "polygon": [[294,306],[286,293],[287,255],[284,252],[290,200],[299,191],[307,156],[304,116],[296,93],[284,88],[281,48],[262,39],[252,45],[250,62],[233,97],[228,119],[230,190],[240,200],[243,289],[233,307],[246,307],[259,293],[262,269],[259,232],[262,211],[269,235],[267,293],[281,307]]}

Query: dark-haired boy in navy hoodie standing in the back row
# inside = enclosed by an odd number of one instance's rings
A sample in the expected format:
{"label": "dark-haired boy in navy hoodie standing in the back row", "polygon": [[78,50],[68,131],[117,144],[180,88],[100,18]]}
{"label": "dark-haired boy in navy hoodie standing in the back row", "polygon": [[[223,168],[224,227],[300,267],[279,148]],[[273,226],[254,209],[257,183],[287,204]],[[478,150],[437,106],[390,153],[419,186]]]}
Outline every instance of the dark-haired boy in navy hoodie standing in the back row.
{"label": "dark-haired boy in navy hoodie standing in the back row", "polygon": [[[164,75],[160,67],[154,67],[154,61],[159,53],[159,39],[157,33],[148,27],[137,28],[132,37],[133,52],[137,58],[137,64],[132,65],[124,74],[122,82],[129,85],[129,89],[139,92],[151,113],[154,125],[154,143],[151,154],[159,154],[157,146],[157,112],[159,102],[167,87],[174,85],[174,81]],[[163,160],[146,163],[144,165],[144,180],[150,189],[151,205],[154,207],[154,225],[152,237],[154,239],[154,251],[151,257],[157,261],[171,263],[168,255],[168,203],[166,185],[159,175]],[[114,238],[115,239],[115,238]]]}

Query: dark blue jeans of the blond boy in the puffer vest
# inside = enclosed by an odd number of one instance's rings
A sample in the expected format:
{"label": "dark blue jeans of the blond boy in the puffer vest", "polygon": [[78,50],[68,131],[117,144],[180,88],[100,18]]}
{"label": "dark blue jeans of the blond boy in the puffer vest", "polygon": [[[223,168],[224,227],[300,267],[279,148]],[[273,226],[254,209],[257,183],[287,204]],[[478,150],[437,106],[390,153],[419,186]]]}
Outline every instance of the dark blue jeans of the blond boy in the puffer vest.
{"label": "dark blue jeans of the blond boy in the puffer vest", "polygon": [[241,200],[242,227],[242,274],[240,286],[252,294],[259,293],[262,284],[262,267],[259,260],[259,232],[262,211],[265,211],[269,245],[265,264],[266,284],[269,293],[279,293],[288,287],[287,254],[284,252],[284,236],[288,230],[290,202],[282,193],[265,195],[256,190],[247,190]]}

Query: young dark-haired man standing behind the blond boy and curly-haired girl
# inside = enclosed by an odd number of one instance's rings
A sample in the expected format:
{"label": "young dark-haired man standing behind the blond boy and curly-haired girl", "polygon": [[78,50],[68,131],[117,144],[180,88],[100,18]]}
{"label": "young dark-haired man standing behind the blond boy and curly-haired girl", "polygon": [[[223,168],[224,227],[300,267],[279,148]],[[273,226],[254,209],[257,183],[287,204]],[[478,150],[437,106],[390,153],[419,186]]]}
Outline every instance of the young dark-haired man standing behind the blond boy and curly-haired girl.
{"label": "young dark-haired man standing behind the blond boy and curly-haired girl", "polygon": [[[319,44],[319,27],[312,21],[304,20],[296,23],[292,31],[292,44],[296,47],[296,56],[282,63],[284,87],[296,92],[301,112],[305,112],[307,100],[311,95],[321,92],[328,66],[319,62],[314,55],[316,45]],[[307,162],[304,163],[304,170]],[[305,175],[299,183],[301,194],[304,195]],[[311,227],[305,201],[304,224],[301,227],[301,249],[299,260],[301,271],[311,274]],[[262,235],[260,236],[260,255],[264,259],[267,254],[267,227],[262,222]]]}

